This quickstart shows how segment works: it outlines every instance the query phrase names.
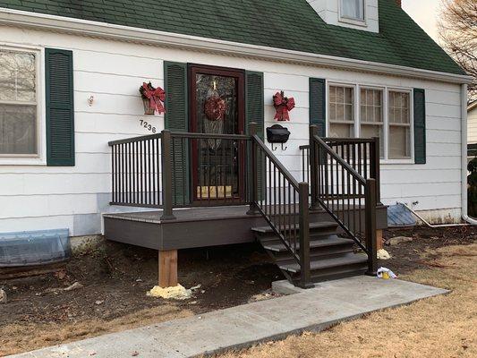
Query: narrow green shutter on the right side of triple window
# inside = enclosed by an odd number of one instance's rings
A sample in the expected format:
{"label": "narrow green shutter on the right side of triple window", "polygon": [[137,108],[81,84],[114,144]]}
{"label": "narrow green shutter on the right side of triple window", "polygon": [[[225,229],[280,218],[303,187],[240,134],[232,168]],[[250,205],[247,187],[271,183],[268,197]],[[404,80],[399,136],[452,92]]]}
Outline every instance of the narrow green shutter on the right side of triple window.
{"label": "narrow green shutter on the right side of triple window", "polygon": [[414,89],[414,162],[426,164],[426,93]]}

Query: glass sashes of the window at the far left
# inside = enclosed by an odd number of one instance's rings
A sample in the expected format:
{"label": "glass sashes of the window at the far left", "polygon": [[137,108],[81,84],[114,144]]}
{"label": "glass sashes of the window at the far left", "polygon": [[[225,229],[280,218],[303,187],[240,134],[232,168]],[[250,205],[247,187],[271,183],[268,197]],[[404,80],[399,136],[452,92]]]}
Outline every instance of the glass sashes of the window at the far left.
{"label": "glass sashes of the window at the far left", "polygon": [[0,48],[0,157],[37,157],[37,61],[34,52]]}

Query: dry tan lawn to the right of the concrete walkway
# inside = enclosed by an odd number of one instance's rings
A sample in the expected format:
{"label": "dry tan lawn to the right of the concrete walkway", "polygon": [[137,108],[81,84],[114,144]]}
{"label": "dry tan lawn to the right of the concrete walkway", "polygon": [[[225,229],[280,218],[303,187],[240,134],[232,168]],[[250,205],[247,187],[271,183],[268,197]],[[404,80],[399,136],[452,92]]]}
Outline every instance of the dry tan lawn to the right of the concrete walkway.
{"label": "dry tan lawn to the right of the concrete walkway", "polygon": [[220,358],[477,357],[477,243],[423,252],[422,262],[400,278],[450,294]]}

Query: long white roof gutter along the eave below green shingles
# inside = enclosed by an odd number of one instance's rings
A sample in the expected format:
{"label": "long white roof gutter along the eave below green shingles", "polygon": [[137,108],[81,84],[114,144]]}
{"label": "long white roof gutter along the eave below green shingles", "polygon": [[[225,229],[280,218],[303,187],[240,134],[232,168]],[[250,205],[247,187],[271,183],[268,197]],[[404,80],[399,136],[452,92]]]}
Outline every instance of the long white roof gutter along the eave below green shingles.
{"label": "long white roof gutter along the eave below green shingles", "polygon": [[275,47],[263,47],[224,41],[214,38],[176,34],[158,30],[147,30],[129,26],[115,25],[99,21],[87,21],[64,16],[30,13],[0,8],[0,25],[24,26],[38,30],[54,30],[75,35],[98,38],[112,38],[143,44],[180,47],[197,51],[208,51],[224,55],[242,55],[268,61],[280,61],[296,64],[322,65],[344,70],[384,73],[405,77],[417,77],[432,81],[450,83],[471,83],[472,77],[447,72],[421,70],[395,64],[379,64],[370,61],[331,55],[317,55],[301,51],[292,51]]}

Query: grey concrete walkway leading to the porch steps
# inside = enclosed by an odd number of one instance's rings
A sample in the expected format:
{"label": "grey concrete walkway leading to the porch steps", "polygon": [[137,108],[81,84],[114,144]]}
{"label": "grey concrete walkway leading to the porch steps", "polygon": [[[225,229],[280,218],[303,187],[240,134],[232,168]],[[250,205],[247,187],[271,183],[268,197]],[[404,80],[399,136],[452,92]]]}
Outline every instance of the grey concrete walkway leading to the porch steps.
{"label": "grey concrete walkway leading to the porch steps", "polygon": [[446,290],[400,280],[351,277],[325,282],[300,294],[10,357],[122,358],[131,357],[134,352],[138,357],[192,357],[283,338],[304,330],[322,330],[371,311],[445,293]]}

